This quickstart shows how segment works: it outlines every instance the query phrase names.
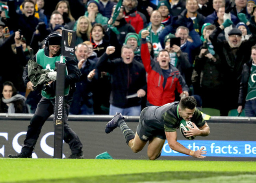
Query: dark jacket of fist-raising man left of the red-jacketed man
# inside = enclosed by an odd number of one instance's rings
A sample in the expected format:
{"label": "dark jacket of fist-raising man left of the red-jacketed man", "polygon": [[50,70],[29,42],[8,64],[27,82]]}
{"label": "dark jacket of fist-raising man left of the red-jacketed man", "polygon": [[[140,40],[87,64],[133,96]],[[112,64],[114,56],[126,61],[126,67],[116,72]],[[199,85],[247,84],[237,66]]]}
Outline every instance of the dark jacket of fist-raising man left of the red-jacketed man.
{"label": "dark jacket of fist-raising man left of the red-jacketed man", "polygon": [[108,60],[108,58],[108,55],[104,53],[96,66],[111,74],[110,104],[119,108],[140,105],[141,98],[126,99],[126,96],[137,93],[139,89],[147,90],[146,71],[143,64],[136,60],[125,64],[121,58],[115,60]]}

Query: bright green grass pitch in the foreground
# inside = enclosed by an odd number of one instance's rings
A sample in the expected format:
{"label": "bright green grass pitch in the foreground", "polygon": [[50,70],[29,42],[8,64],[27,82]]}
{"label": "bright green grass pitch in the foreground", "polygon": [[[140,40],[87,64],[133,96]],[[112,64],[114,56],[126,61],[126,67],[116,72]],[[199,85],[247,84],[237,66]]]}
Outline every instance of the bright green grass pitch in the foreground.
{"label": "bright green grass pitch in the foreground", "polygon": [[0,158],[0,183],[255,183],[256,162]]}

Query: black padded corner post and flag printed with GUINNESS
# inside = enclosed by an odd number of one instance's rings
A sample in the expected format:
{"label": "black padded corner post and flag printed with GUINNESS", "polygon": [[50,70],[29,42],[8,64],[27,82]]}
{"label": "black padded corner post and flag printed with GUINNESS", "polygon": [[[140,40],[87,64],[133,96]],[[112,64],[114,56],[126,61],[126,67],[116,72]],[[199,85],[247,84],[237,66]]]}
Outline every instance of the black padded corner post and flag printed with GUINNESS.
{"label": "black padded corner post and flag printed with GUINNESS", "polygon": [[66,63],[64,57],[75,58],[75,42],[76,31],[70,31],[67,29],[62,30],[61,40],[61,59],[60,62],[56,62],[57,67],[57,79],[56,79],[56,97],[54,106],[54,158],[62,158],[63,152],[63,130],[65,113],[65,74]]}

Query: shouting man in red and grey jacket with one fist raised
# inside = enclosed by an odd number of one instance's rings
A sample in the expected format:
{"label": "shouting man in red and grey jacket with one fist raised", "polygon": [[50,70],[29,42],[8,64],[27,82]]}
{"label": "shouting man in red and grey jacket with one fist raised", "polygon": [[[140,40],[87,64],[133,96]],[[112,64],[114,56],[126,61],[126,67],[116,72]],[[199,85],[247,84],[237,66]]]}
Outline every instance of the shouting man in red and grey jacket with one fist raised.
{"label": "shouting man in red and grey jacket with one fist raised", "polygon": [[148,30],[141,32],[141,58],[147,72],[147,106],[161,106],[174,102],[176,89],[180,97],[188,96],[189,88],[180,71],[169,63],[170,57],[167,50],[163,49],[159,52],[157,62],[150,60],[146,42],[148,35]]}

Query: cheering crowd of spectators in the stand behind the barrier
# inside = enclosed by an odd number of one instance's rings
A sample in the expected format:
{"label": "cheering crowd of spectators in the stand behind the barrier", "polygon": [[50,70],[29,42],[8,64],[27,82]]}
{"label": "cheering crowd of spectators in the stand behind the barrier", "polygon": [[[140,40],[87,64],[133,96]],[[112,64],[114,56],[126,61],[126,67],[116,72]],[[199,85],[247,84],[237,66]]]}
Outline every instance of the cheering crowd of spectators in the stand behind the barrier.
{"label": "cheering crowd of spectators in the stand behind the barrier", "polygon": [[62,29],[76,31],[81,72],[72,114],[139,115],[195,95],[226,116],[255,100],[256,0],[1,0],[0,112],[35,112],[23,69]]}

